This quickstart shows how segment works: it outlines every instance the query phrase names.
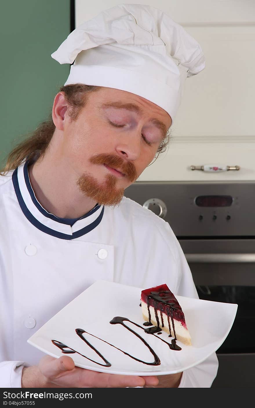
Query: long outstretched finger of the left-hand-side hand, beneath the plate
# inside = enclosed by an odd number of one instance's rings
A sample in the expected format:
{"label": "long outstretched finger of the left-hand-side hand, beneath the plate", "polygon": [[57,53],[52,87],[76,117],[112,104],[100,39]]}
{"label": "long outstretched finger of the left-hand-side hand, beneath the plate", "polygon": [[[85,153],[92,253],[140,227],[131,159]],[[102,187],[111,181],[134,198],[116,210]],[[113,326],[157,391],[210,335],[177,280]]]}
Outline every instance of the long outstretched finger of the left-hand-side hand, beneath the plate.
{"label": "long outstretched finger of the left-hand-side hand, beneath the plate", "polygon": [[125,388],[125,387],[143,387],[145,380],[136,375],[117,375],[98,373],[91,370],[82,372],[84,386],[97,388]]}

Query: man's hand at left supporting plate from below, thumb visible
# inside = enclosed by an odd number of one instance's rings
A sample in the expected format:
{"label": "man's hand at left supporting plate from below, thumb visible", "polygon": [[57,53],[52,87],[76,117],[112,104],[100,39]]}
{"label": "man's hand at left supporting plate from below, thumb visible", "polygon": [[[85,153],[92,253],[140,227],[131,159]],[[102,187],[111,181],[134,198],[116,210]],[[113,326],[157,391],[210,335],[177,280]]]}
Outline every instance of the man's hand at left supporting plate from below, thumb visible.
{"label": "man's hand at left supporting plate from below, thumb visible", "polygon": [[98,373],[75,367],[69,356],[45,356],[38,366],[25,367],[22,371],[22,388],[125,388],[157,386],[154,376],[116,375]]}

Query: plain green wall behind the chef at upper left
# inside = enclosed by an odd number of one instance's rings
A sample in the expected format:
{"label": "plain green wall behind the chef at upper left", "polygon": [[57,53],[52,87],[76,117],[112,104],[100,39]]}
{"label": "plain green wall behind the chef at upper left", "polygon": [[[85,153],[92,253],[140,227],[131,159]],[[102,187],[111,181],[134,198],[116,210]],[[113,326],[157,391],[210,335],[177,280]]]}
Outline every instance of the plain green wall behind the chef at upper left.
{"label": "plain green wall behind the chef at upper left", "polygon": [[69,74],[51,53],[70,33],[69,0],[8,0],[1,4],[0,164],[45,120]]}

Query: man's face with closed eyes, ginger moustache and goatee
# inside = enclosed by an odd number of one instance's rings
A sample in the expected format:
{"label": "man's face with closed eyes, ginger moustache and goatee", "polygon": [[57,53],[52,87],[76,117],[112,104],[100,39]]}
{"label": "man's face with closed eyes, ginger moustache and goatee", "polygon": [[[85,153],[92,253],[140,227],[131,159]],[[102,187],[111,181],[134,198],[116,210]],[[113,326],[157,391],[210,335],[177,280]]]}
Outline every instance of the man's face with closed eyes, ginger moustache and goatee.
{"label": "man's face with closed eyes, ginger moustache and goatee", "polygon": [[118,204],[125,188],[152,162],[171,125],[166,111],[133,93],[101,88],[78,118],[66,120],[62,153],[83,193]]}

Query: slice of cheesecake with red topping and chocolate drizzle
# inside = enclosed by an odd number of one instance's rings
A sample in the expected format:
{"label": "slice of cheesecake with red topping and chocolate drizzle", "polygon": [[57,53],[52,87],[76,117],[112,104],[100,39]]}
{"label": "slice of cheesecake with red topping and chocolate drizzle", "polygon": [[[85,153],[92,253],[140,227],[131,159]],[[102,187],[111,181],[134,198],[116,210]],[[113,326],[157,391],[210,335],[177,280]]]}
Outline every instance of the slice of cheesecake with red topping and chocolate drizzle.
{"label": "slice of cheesecake with red topping and chocolate drizzle", "polygon": [[160,327],[183,344],[191,345],[182,308],[166,284],[142,290],[141,307],[146,322]]}

